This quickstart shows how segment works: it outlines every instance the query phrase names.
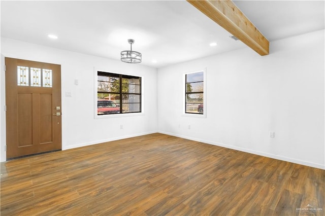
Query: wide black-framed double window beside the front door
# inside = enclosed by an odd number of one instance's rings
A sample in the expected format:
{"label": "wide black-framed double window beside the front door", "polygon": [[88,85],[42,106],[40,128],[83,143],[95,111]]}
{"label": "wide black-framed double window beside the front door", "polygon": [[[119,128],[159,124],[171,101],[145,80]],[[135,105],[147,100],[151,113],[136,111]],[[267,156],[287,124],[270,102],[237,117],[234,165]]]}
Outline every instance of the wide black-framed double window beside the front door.
{"label": "wide black-framed double window beside the front door", "polygon": [[97,115],[141,112],[141,77],[102,71],[97,77]]}

